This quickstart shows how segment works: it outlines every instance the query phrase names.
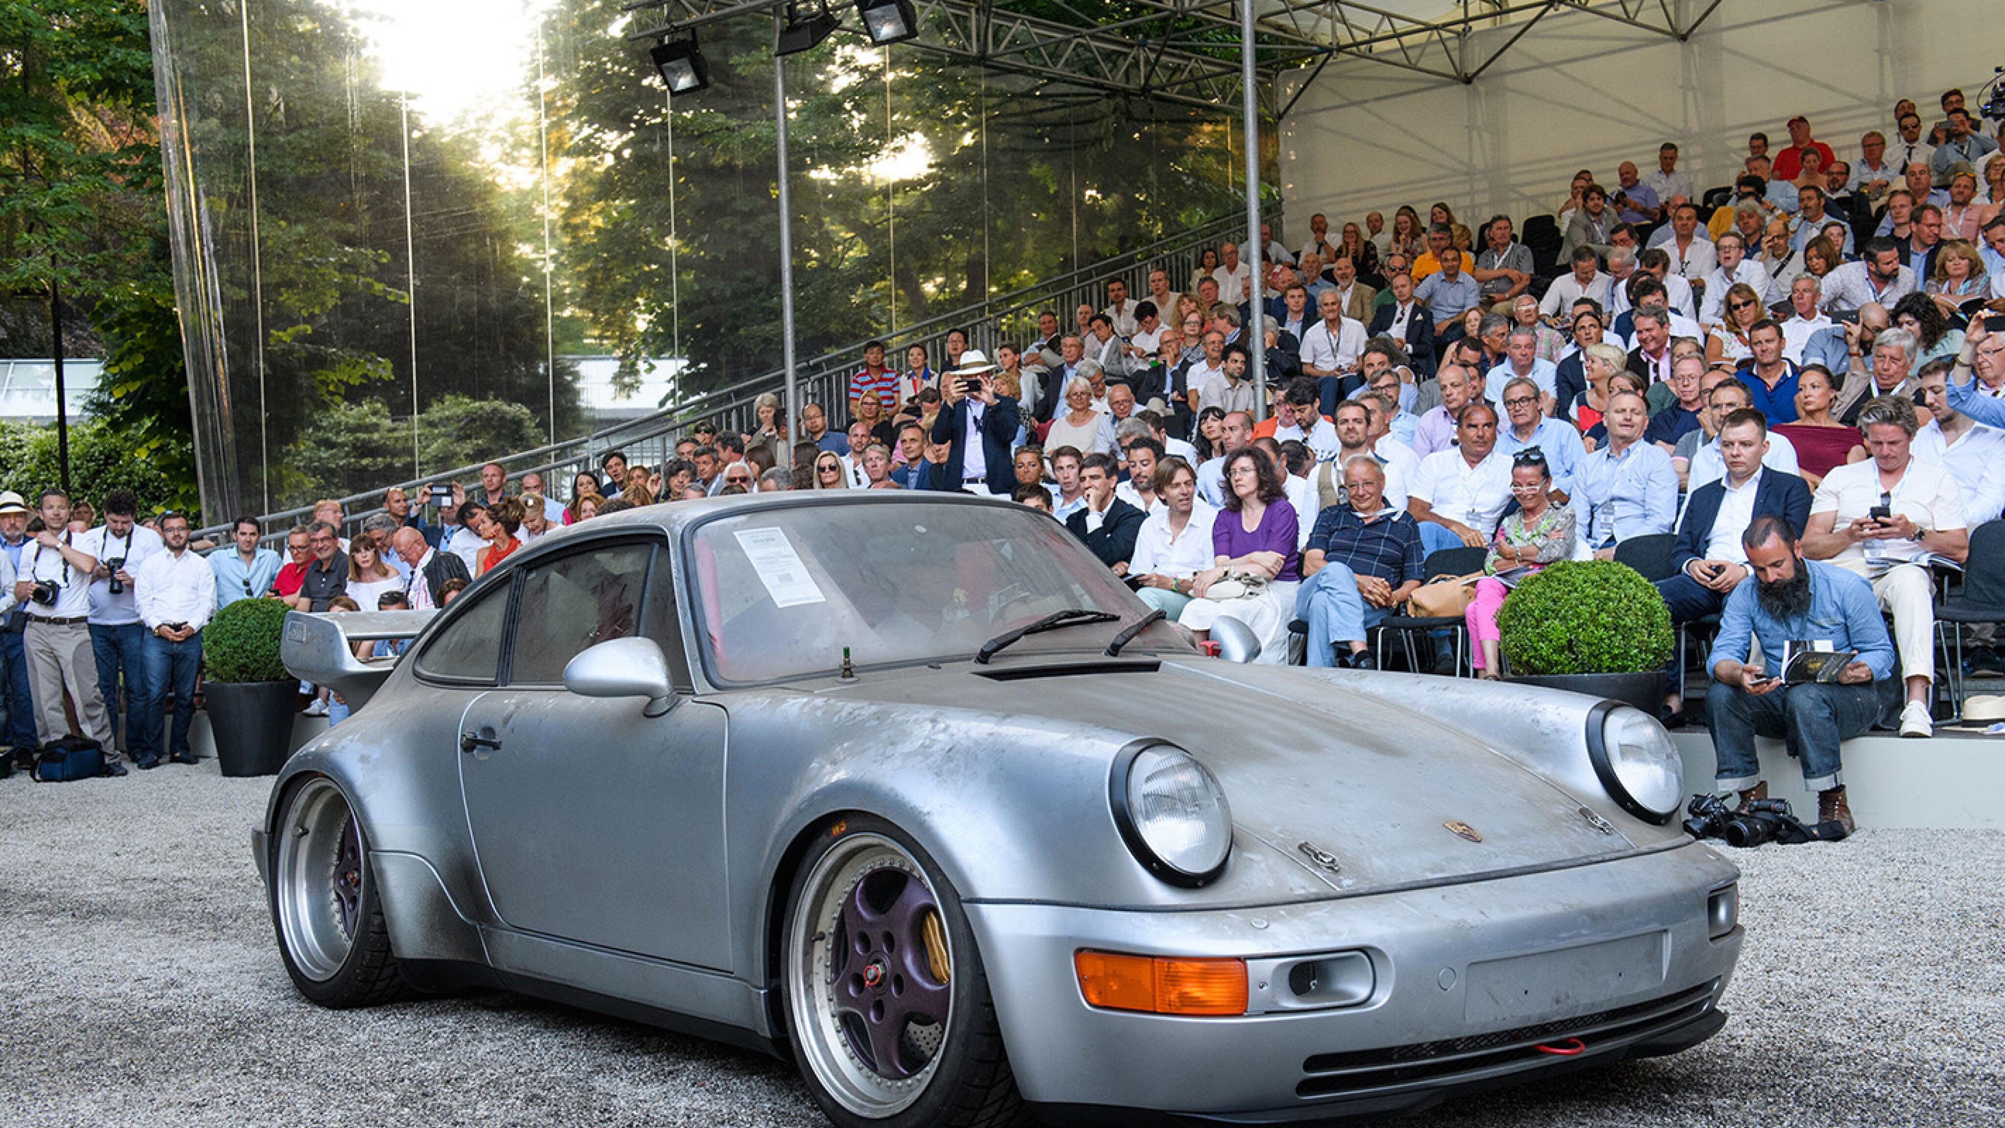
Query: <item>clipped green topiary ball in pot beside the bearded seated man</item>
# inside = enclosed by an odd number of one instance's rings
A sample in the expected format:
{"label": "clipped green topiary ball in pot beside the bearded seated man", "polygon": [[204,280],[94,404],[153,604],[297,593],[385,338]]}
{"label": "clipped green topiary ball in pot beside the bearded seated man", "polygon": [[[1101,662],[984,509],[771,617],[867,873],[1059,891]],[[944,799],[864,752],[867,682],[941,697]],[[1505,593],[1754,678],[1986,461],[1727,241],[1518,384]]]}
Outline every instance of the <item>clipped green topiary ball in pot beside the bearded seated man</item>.
{"label": "clipped green topiary ball in pot beside the bearded seated man", "polygon": [[1526,576],[1498,612],[1510,680],[1622,700],[1656,717],[1670,610],[1628,564],[1570,560]]}

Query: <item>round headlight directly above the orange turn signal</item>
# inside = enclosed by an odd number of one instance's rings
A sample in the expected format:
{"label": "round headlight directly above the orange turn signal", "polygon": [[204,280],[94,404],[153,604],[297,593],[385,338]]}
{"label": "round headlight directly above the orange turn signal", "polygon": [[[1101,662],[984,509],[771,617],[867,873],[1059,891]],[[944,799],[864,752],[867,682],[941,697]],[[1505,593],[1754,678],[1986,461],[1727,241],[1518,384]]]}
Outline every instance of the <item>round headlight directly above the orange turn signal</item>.
{"label": "round headlight directly above the orange turn signal", "polygon": [[1203,885],[1225,869],[1233,813],[1211,769],[1171,745],[1135,743],[1107,781],[1115,825],[1135,857],[1171,885]]}

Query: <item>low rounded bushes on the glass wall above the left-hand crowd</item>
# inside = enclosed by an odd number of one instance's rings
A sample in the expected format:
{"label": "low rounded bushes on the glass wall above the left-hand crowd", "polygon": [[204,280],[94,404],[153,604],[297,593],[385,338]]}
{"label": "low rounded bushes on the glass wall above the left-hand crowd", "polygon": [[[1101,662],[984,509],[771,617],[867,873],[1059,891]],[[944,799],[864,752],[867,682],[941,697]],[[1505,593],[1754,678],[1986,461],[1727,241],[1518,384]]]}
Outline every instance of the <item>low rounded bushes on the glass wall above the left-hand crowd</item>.
{"label": "low rounded bushes on the glass wall above the left-hand crowd", "polygon": [[[421,474],[541,444],[541,424],[521,403],[447,395],[417,417]],[[381,399],[337,403],[315,415],[287,464],[299,472],[303,496],[381,490],[411,478],[411,419],[393,419]]]}

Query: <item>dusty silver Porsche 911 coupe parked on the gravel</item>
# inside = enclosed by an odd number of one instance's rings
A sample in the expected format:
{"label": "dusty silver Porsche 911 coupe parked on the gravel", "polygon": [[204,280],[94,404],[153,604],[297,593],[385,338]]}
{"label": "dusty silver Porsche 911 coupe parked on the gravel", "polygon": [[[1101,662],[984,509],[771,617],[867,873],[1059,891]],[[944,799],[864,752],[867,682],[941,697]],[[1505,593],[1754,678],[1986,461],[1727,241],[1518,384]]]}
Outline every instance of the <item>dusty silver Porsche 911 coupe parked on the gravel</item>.
{"label": "dusty silver Porsche 911 coupe parked on the gravel", "polygon": [[1383,1114],[1726,1022],[1738,871],[1654,719],[1205,656],[1009,502],[642,508],[411,624],[287,620],[359,704],[255,833],[317,1004],[567,1000],[844,1126]]}

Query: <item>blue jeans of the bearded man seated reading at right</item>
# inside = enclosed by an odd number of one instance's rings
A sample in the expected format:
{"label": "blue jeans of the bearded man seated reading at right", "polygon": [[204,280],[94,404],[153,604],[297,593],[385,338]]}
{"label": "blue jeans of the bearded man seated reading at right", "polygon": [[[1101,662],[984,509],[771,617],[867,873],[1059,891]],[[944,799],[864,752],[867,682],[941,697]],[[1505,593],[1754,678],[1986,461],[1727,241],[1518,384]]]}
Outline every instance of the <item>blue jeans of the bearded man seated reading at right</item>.
{"label": "blue jeans of the bearded man seated reading at right", "polygon": [[1845,783],[1839,743],[1873,729],[1901,696],[1899,678],[1871,684],[1792,684],[1752,694],[1726,682],[1706,690],[1714,779],[1720,793],[1746,791],[1760,779],[1754,737],[1780,737],[1802,761],[1802,785],[1829,791]]}

